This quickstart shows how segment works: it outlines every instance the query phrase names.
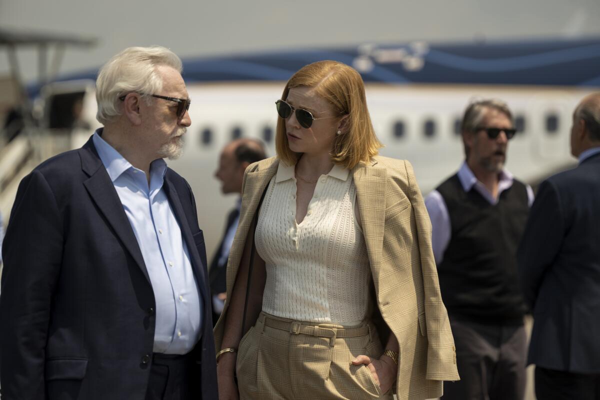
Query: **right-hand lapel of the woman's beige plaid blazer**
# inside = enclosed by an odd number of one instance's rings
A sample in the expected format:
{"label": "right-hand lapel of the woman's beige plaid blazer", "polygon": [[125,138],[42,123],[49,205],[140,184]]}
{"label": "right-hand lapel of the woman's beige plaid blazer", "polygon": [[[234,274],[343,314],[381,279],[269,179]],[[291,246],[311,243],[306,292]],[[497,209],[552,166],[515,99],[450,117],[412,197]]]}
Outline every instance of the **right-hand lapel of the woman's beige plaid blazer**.
{"label": "right-hand lapel of the woman's beige plaid blazer", "polygon": [[371,273],[377,286],[379,265],[383,254],[387,171],[375,165],[376,163],[356,166],[352,170],[352,177],[356,186],[358,209],[361,213],[362,231],[367,245]]}

